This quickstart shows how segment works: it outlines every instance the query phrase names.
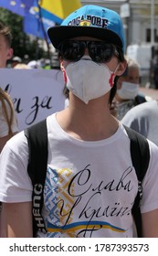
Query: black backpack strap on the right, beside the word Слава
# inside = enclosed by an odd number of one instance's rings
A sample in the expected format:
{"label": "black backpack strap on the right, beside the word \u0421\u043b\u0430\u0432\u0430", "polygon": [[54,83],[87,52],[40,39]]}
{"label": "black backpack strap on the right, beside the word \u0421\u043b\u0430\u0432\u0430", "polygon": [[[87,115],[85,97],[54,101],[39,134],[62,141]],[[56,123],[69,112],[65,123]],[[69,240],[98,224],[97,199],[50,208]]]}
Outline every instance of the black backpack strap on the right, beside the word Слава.
{"label": "black backpack strap on the right, beside the word \u0421\u043b\u0430\u0432\u0430", "polygon": [[142,134],[123,125],[131,140],[132,165],[138,178],[138,193],[132,207],[132,215],[135,220],[138,237],[142,237],[142,217],[140,200],[142,198],[142,179],[146,174],[150,161],[150,150],[147,139]]}

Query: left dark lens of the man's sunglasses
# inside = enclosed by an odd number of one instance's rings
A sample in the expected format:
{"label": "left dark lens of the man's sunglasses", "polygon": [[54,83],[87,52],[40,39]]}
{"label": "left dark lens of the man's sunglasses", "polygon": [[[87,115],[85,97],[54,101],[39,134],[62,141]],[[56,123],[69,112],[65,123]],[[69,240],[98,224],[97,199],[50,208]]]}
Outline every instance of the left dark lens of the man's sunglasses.
{"label": "left dark lens of the man's sunglasses", "polygon": [[84,54],[85,44],[79,41],[67,41],[60,47],[63,59],[78,61]]}

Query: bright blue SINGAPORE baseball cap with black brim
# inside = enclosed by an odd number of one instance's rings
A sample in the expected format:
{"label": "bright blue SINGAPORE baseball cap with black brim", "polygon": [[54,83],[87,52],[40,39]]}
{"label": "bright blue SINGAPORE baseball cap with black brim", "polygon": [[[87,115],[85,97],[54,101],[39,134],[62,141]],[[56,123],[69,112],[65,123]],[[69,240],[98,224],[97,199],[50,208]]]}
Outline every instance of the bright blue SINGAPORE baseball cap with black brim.
{"label": "bright blue SINGAPORE baseball cap with black brim", "polygon": [[98,5],[84,5],[71,13],[58,27],[49,27],[52,45],[73,37],[95,37],[118,45],[124,52],[125,37],[121,17],[114,11]]}

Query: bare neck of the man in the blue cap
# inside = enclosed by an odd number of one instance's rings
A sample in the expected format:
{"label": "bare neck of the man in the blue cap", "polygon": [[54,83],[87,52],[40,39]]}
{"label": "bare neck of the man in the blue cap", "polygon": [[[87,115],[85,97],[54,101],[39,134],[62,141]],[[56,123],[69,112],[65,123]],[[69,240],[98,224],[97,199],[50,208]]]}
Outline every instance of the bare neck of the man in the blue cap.
{"label": "bare neck of the man in the blue cap", "polygon": [[105,102],[102,106],[101,102],[70,104],[63,112],[58,112],[57,122],[66,133],[84,141],[108,138],[119,126]]}

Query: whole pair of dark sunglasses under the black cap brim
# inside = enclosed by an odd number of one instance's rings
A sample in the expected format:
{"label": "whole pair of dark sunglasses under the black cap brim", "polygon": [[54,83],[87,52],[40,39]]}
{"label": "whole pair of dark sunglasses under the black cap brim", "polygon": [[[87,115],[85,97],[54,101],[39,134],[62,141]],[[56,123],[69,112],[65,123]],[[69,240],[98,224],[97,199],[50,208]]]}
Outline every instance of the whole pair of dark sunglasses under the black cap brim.
{"label": "whole pair of dark sunglasses under the black cap brim", "polygon": [[65,60],[78,61],[85,54],[88,48],[90,58],[95,62],[109,62],[112,56],[119,57],[119,52],[112,44],[101,41],[63,41],[58,50]]}

